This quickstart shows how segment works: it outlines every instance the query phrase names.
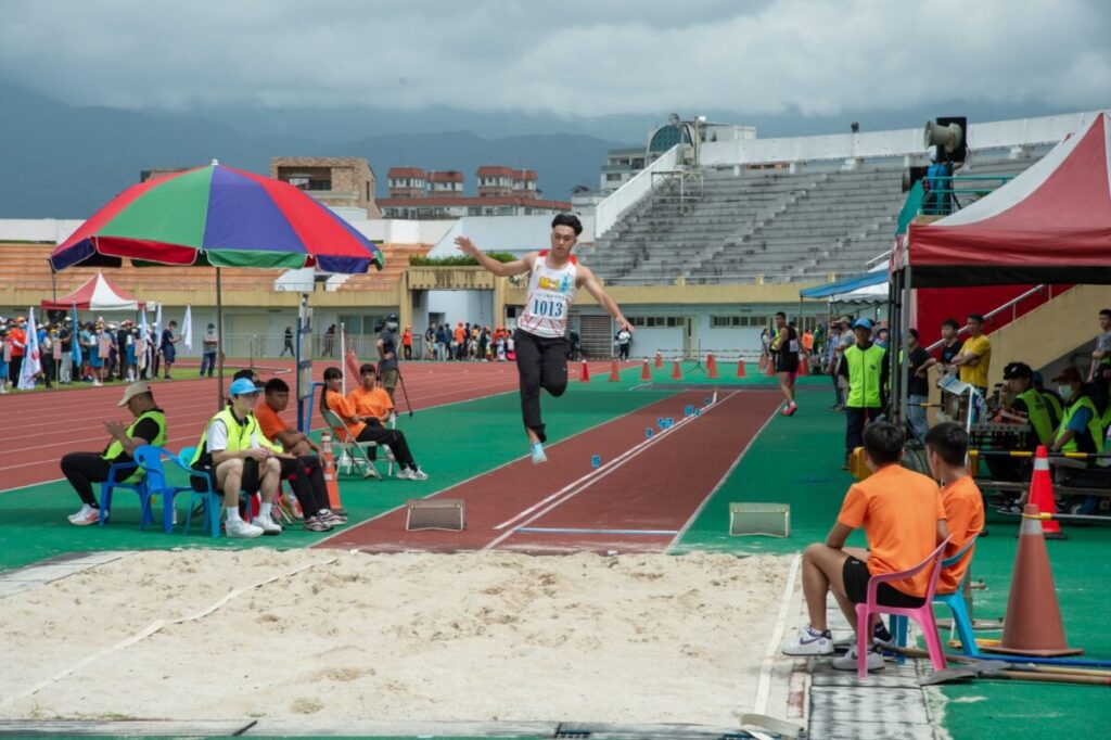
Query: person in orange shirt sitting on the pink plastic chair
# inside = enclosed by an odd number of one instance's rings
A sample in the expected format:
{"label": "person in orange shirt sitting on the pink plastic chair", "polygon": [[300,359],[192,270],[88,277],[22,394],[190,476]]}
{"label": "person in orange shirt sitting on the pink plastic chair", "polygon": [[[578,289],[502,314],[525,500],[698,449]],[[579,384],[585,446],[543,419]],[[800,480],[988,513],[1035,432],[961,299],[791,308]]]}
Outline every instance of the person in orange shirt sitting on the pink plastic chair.
{"label": "person in orange shirt sitting on the pink plastic chair", "polygon": [[[873,422],[864,429],[864,462],[872,474],[845,493],[825,543],[811,544],[802,553],[802,593],[810,624],[783,644],[784,654],[833,652],[833,639],[825,622],[827,593],[833,591],[855,631],[853,604],[865,600],[868,580],[917,566],[949,537],[937,482],[899,464],[904,442],[902,430],[887,421]],[[849,534],[860,527],[864,528],[870,550],[845,548]],[[894,584],[881,583],[877,601],[889,607],[921,607],[929,578],[927,569]],[[870,648],[868,670],[883,668],[883,656]],[[857,670],[857,646],[834,659],[833,668]]]}

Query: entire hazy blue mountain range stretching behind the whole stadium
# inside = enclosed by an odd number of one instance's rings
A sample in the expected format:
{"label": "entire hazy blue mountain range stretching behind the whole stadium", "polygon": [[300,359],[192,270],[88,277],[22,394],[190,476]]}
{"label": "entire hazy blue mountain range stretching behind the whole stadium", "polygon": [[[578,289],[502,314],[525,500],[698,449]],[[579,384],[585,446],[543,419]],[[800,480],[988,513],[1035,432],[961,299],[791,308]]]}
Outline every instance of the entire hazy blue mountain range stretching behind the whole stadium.
{"label": "entire hazy blue mountain range stretching behind the whole stadium", "polygon": [[[197,167],[213,158],[269,173],[271,157],[363,157],[378,178],[379,197],[386,194],[387,171],[396,166],[461,170],[469,193],[476,190],[474,170],[482,164],[528,167],[539,173],[544,197],[568,199],[575,186],[598,189],[607,150],[643,144],[648,131],[670,112],[561,118],[372,106],[134,111],[69,106],[3,80],[0,101],[0,161],[8,171],[0,181],[0,218],[84,218],[138,182],[142,170]],[[848,131],[850,121],[875,131],[918,127],[935,116],[964,114],[975,122],[1065,111],[1039,103],[952,102],[852,116],[697,112],[713,121],[755,126],[767,138]]]}

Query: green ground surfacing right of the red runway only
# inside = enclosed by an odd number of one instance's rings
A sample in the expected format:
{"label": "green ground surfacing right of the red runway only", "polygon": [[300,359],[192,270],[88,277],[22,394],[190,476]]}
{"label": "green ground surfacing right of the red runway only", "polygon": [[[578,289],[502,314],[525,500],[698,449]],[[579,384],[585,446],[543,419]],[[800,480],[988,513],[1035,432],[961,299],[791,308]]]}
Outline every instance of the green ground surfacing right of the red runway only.
{"label": "green ground surfacing right of the red runway only", "polygon": [[[832,393],[803,392],[799,411],[775,417],[753,442],[740,464],[702,510],[675,552],[709,550],[738,554],[785,554],[822,541],[837,518],[844,491],[852,483],[840,470],[844,417],[827,411]],[[791,504],[791,537],[730,537],[729,503],[762,501]],[[978,619],[1001,619],[1007,611],[1018,531],[1017,518],[989,509],[990,534],[981,538],[972,562],[974,579],[987,590],[974,591]],[[1050,541],[1050,561],[1069,644],[1085,656],[1111,661],[1107,628],[1111,584],[1111,529],[1067,528],[1069,539]],[[851,543],[864,544],[859,532]],[[949,618],[944,609],[939,618]],[[943,638],[947,636],[943,636]],[[999,637],[985,632],[983,637]],[[949,699],[943,727],[954,739],[1105,736],[1111,726],[1111,699],[1105,687],[977,681],[941,689]]]}

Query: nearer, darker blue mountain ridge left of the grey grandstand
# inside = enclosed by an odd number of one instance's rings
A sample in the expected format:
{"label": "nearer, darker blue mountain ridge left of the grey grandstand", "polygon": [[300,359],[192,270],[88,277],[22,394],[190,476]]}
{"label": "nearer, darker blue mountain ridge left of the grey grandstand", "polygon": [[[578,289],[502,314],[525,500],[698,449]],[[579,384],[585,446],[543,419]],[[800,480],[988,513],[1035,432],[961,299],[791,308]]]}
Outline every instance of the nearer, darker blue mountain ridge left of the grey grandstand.
{"label": "nearer, darker blue mountain ridge left of the grey grandstand", "polygon": [[[207,118],[110,108],[76,108],[0,82],[0,218],[86,218],[142,170],[197,167],[218,159],[252,172],[270,172],[271,157],[363,157],[374,170],[379,197],[394,166],[461,170],[477,188],[482,164],[531,168],[546,198],[569,199],[583,184],[598,189],[607,150],[628,146],[581,133],[539,133],[486,139],[470,131],[379,133],[353,140],[318,140],[293,133],[244,132]],[[446,119],[444,123],[450,123]]]}

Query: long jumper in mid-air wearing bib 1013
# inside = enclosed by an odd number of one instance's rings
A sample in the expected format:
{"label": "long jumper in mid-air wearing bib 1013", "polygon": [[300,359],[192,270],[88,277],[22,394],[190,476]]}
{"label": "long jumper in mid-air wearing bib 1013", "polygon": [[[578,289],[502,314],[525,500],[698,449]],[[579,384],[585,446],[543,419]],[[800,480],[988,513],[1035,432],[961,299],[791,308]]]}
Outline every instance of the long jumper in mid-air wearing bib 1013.
{"label": "long jumper in mid-air wearing bib 1013", "polygon": [[552,219],[551,249],[529,252],[512,262],[488,257],[467,237],[456,237],[456,246],[496,276],[529,274],[529,294],[517,321],[513,343],[521,374],[521,416],[532,450],[532,462],[546,462],[544,424],[540,420],[540,389],[559,397],[567,390],[567,319],[579,288],[594,297],[621,329],[632,332],[613,299],[605,294],[594,273],[571,254],[582,223],[578,217],[560,213]]}

